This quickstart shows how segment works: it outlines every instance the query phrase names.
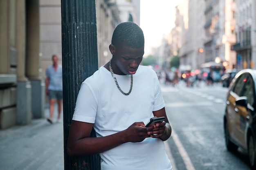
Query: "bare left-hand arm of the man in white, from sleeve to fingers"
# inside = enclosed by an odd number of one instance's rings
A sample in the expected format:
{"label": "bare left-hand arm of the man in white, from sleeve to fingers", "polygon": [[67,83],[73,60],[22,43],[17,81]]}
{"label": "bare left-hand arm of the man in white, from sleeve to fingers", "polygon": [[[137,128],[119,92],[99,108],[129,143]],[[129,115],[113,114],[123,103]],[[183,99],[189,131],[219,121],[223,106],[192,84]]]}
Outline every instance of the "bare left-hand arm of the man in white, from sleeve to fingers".
{"label": "bare left-hand arm of the man in white, from sleeve to fingers", "polygon": [[95,155],[115,148],[126,142],[141,142],[153,127],[144,127],[143,122],[135,122],[126,130],[106,137],[89,137],[93,124],[72,120],[67,141],[67,152],[70,156]]}

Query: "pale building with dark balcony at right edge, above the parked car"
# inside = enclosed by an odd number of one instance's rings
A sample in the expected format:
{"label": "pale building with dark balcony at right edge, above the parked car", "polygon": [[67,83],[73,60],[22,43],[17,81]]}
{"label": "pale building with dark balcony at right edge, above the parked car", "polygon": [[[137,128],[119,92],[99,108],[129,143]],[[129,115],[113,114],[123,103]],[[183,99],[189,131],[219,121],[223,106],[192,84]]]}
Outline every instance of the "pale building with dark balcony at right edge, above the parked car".
{"label": "pale building with dark balcony at right edge, above the parked car", "polygon": [[236,51],[238,70],[256,68],[256,1],[235,0],[236,44],[231,49]]}

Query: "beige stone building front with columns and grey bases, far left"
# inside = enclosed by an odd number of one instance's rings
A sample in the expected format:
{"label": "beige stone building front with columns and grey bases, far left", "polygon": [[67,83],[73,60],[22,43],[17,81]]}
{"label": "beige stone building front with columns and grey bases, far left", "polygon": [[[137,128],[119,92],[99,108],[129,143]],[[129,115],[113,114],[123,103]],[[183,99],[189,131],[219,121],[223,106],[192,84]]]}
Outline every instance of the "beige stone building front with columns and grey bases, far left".
{"label": "beige stone building front with columns and grey bases, far left", "polygon": [[39,1],[0,1],[0,128],[44,114],[40,76]]}

